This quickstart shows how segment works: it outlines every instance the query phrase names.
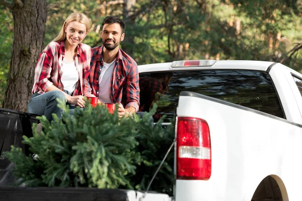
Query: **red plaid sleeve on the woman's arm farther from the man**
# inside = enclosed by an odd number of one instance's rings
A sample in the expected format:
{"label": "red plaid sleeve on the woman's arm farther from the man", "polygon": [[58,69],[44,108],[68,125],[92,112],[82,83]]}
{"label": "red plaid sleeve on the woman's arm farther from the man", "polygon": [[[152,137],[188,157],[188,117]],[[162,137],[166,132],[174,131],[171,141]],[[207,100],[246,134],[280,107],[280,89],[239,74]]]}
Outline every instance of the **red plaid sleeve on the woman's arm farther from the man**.
{"label": "red plaid sleeve on the woman's arm farther from the man", "polygon": [[52,59],[53,55],[51,51],[43,51],[40,54],[39,60],[37,62],[35,75],[37,79],[35,80],[37,83],[37,87],[45,92],[47,88],[49,88],[53,83],[49,81],[50,72],[52,70]]}

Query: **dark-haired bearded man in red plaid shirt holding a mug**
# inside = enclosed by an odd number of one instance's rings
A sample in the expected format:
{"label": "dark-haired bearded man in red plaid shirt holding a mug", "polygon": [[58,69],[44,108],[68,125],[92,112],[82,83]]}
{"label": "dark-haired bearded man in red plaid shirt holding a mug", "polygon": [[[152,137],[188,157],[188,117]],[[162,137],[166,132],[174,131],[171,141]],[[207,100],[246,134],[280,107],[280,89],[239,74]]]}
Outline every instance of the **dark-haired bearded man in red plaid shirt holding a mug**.
{"label": "dark-haired bearded man in red plaid shirt holding a mug", "polygon": [[[134,114],[139,108],[139,76],[136,62],[119,48],[125,37],[125,23],[108,16],[102,23],[103,45],[92,49],[89,84],[92,94],[101,103],[118,103],[118,115]],[[126,93],[126,106],[121,103],[122,91]]]}

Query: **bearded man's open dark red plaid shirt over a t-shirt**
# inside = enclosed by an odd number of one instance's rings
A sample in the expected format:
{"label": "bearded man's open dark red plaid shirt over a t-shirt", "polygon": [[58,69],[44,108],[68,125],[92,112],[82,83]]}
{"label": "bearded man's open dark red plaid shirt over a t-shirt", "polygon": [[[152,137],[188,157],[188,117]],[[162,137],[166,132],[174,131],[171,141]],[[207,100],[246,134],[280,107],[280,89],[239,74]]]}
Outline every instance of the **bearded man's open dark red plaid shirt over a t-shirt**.
{"label": "bearded man's open dark red plaid shirt over a t-shirt", "polygon": [[[92,49],[93,56],[90,63],[91,71],[89,75],[89,84],[92,94],[99,97],[99,77],[103,68],[103,45]],[[132,106],[138,111],[139,107],[139,76],[136,62],[121,49],[118,50],[116,63],[111,77],[112,103],[121,103],[122,91],[125,90],[126,106]]]}

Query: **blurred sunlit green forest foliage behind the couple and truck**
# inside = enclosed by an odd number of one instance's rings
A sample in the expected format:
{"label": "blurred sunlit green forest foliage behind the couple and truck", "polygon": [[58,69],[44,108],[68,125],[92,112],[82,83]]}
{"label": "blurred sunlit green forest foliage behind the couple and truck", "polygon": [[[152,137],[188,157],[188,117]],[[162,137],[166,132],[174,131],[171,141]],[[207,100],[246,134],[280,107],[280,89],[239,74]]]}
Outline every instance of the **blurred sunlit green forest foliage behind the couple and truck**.
{"label": "blurred sunlit green forest foliage behind the couple and truck", "polygon": [[[45,46],[72,12],[91,20],[84,43],[102,44],[101,23],[108,15],[126,21],[121,43],[137,64],[180,59],[242,59],[282,62],[300,71],[302,64],[302,1],[136,0],[125,10],[123,1],[47,0]],[[130,2],[130,1],[125,1]],[[0,6],[0,104],[6,86],[13,43],[13,19]],[[294,47],[294,50],[291,51]]]}

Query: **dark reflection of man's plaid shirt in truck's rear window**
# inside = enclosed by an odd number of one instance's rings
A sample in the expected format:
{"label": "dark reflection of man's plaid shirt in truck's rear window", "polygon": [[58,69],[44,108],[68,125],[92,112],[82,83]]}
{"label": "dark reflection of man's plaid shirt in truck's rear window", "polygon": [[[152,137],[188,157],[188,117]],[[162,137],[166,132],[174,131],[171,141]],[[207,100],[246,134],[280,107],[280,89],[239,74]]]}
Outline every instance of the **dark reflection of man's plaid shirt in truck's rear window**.
{"label": "dark reflection of man's plaid shirt in truck's rear window", "polygon": [[139,111],[149,112],[149,108],[152,106],[156,93],[163,92],[163,85],[156,78],[143,77],[139,79],[139,87],[140,87]]}

